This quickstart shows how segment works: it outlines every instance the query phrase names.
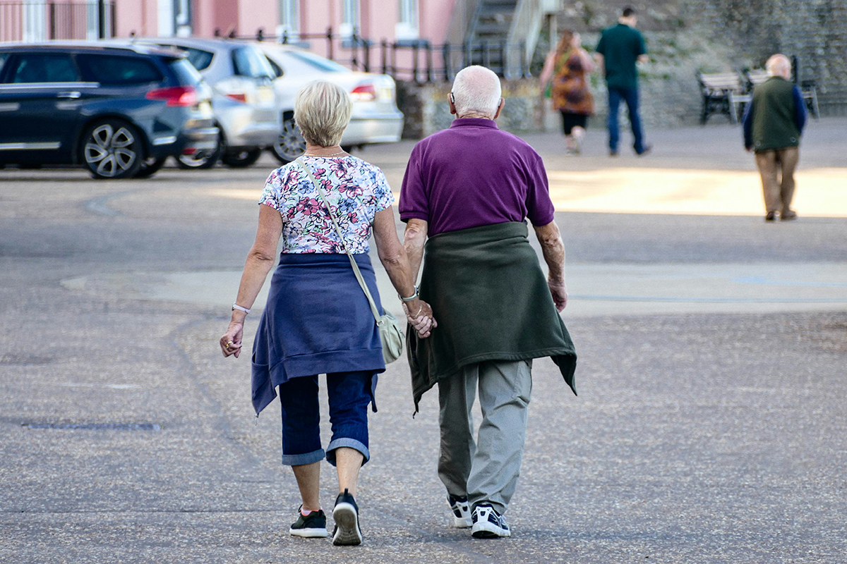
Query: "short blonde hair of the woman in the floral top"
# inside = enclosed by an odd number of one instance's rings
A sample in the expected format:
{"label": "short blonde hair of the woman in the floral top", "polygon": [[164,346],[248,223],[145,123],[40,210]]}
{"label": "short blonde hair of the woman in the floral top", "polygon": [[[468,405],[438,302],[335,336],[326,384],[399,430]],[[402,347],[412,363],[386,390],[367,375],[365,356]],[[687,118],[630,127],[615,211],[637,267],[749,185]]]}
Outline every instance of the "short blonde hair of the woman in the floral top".
{"label": "short blonde hair of the woman in the floral top", "polygon": [[338,145],[350,123],[353,103],[339,85],[314,80],[303,86],[294,99],[294,121],[312,145]]}

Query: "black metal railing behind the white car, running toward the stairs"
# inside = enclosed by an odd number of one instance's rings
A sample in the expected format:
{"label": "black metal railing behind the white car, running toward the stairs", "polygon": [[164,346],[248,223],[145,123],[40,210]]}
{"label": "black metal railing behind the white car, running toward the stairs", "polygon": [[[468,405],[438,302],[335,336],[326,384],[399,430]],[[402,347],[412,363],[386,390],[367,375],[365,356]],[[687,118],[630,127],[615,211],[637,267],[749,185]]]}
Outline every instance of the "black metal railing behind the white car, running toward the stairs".
{"label": "black metal railing behind the white car, running toward the stairs", "polygon": [[[215,30],[215,36],[220,36]],[[353,70],[388,74],[396,80],[408,80],[419,84],[450,81],[456,73],[469,64],[481,64],[506,79],[530,78],[526,63],[526,45],[507,41],[481,41],[433,45],[426,40],[375,42],[358,36],[335,34],[331,27],[325,33],[301,33],[282,36],[267,36],[263,29],[253,36],[238,36],[235,31],[227,36],[232,39],[254,41],[276,41],[283,44],[303,45],[312,41],[324,43],[324,57],[344,64]],[[377,58],[379,57],[379,58]]]}

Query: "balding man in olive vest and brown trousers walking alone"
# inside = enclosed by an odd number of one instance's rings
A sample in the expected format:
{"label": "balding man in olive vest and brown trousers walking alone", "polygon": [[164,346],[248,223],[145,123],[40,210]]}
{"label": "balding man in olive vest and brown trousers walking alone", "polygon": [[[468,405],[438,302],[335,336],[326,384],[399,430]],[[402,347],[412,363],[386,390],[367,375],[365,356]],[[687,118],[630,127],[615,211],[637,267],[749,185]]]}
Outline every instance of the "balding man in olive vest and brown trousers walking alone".
{"label": "balding man in olive vest and brown trousers walking alone", "polygon": [[[800,160],[800,134],[805,125],[805,103],[792,84],[791,63],[785,55],[767,59],[769,79],[753,90],[744,115],[744,145],[755,151],[756,167],[765,193],[766,222],[796,219],[791,209],[794,168]],[[782,178],[780,178],[782,177]]]}

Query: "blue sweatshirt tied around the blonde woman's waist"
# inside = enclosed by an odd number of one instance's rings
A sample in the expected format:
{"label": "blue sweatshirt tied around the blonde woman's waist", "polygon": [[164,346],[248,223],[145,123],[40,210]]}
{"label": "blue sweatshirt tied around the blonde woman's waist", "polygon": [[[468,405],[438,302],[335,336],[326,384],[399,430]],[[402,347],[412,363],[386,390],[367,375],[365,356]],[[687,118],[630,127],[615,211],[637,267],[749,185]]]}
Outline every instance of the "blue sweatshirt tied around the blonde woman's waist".
{"label": "blue sweatshirt tied around the blonde woman's waist", "polygon": [[[377,304],[374,267],[353,255]],[[280,255],[253,342],[252,401],[258,414],[291,378],[385,371],[379,329],[347,255]]]}

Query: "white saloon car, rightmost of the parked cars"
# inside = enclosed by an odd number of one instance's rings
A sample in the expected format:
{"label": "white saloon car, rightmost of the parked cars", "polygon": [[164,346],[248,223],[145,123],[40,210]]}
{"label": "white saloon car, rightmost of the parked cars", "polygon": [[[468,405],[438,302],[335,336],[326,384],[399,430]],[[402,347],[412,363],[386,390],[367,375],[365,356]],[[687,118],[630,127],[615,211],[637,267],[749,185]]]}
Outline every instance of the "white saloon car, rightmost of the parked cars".
{"label": "white saloon car, rightmost of the parked cars", "polygon": [[255,45],[268,57],[277,75],[274,90],[282,114],[282,132],[271,151],[283,164],[306,151],[306,142],[294,123],[294,96],[312,80],[328,80],[350,92],[352,116],[341,145],[351,148],[400,140],[403,114],[397,109],[396,86],[390,76],[352,71],[297,47],[267,42]]}

